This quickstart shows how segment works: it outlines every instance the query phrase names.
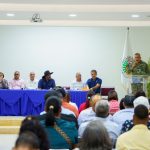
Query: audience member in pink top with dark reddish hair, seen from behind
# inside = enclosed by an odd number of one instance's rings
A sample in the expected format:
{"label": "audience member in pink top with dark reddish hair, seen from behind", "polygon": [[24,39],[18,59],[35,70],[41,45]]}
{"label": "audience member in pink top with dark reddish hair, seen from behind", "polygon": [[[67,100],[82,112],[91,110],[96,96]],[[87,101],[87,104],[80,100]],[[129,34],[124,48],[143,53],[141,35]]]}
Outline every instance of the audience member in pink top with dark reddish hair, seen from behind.
{"label": "audience member in pink top with dark reddish hair, seen from behind", "polygon": [[115,112],[119,111],[118,94],[115,90],[108,92],[108,101],[110,107],[109,113],[113,115]]}

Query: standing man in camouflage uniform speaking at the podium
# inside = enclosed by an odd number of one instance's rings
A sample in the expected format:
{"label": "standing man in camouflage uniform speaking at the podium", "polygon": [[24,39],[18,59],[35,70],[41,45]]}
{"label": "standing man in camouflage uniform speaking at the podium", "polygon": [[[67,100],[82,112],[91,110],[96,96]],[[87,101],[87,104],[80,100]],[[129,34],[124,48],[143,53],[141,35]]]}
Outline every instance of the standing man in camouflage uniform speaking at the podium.
{"label": "standing man in camouflage uniform speaking at the podium", "polygon": [[[128,73],[133,75],[132,77],[132,93],[135,94],[137,91],[143,90],[143,77],[149,75],[148,65],[141,60],[140,53],[134,54],[134,62],[131,67],[127,68]],[[143,77],[142,77],[143,75]]]}

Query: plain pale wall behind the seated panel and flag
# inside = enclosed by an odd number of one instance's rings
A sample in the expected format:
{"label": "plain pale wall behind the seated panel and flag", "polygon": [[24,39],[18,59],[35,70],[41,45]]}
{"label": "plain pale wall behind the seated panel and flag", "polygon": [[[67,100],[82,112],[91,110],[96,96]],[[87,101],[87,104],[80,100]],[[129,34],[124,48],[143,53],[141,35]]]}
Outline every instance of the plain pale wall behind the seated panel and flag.
{"label": "plain pale wall behind the seated panel and flag", "polygon": [[[47,69],[57,85],[69,86],[77,71],[86,81],[96,69],[103,86],[114,86],[121,98],[125,94],[120,81],[125,27],[40,27],[0,26],[0,71],[6,79],[15,70],[28,79],[35,71],[41,78]],[[130,41],[134,52],[148,60],[150,28],[132,27]]]}

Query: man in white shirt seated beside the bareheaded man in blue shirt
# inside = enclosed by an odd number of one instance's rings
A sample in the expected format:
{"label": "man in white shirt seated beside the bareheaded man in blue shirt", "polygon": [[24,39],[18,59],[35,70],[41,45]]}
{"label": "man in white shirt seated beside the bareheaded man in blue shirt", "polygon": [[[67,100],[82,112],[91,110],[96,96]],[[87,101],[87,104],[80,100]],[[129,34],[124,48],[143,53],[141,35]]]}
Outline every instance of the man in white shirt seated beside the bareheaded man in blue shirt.
{"label": "man in white shirt seated beside the bareheaded man in blue shirt", "polygon": [[82,90],[85,86],[86,86],[85,83],[82,82],[81,73],[77,72],[76,79],[71,84],[71,89],[72,90]]}

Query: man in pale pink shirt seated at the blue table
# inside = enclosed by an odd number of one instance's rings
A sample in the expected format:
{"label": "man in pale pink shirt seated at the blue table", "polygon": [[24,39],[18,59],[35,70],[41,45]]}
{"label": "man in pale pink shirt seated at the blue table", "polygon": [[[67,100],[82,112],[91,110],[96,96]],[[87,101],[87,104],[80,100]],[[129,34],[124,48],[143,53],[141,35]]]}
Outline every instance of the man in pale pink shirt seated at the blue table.
{"label": "man in pale pink shirt seated at the blue table", "polygon": [[20,79],[20,72],[14,72],[14,79],[9,82],[9,89],[24,89],[25,83]]}

